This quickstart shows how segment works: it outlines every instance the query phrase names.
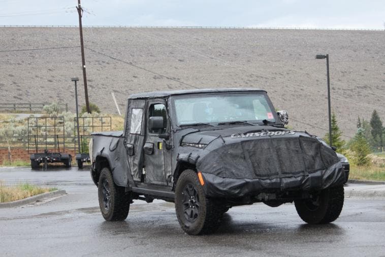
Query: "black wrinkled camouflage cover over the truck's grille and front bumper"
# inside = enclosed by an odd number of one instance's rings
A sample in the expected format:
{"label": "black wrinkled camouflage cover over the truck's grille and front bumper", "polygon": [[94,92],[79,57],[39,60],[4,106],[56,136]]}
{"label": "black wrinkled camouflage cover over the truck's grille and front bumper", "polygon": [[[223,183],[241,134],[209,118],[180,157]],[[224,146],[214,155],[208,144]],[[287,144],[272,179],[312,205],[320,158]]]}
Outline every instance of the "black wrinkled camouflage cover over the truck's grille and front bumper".
{"label": "black wrinkled camouflage cover over the truck's grille and front bumper", "polygon": [[213,140],[197,161],[209,196],[322,190],[345,180],[336,153],[304,132],[225,139],[221,146]]}

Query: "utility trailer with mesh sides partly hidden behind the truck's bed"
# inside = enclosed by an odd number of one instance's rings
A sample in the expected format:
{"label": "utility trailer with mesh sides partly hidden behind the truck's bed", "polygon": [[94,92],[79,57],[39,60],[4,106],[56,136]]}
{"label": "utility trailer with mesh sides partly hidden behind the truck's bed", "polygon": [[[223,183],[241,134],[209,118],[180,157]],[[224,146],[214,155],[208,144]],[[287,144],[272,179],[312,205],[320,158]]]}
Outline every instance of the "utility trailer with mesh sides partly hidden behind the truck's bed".
{"label": "utility trailer with mesh sides partly hidden behind the truck's bed", "polygon": [[91,133],[95,131],[111,131],[111,117],[79,117],[79,130],[77,130],[76,118],[74,118],[74,131],[74,147],[75,153],[77,152],[75,159],[78,168],[83,168],[83,163],[91,163],[88,153]]}

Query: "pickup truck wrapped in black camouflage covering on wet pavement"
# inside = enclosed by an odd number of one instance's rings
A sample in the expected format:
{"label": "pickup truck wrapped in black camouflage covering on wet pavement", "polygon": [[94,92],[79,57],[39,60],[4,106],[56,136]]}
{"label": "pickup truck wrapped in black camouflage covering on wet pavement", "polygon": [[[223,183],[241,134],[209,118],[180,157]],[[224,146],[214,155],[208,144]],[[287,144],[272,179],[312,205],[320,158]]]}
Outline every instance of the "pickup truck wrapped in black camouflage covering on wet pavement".
{"label": "pickup truck wrapped in black camouflage covering on wet pavement", "polygon": [[208,89],[131,95],[123,131],[92,134],[91,177],[106,220],[135,199],[175,203],[188,234],[212,233],[223,213],[295,203],[307,223],[332,222],[345,172],[335,151],[288,130],[266,91]]}

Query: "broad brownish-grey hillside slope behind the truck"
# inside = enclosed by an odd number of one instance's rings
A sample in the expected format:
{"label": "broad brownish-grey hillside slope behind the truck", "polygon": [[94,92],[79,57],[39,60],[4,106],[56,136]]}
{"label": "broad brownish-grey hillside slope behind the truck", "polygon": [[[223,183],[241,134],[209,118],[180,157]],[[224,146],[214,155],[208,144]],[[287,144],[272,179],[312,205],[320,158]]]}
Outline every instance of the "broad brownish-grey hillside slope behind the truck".
{"label": "broad brownish-grey hillside slope behind the truck", "polygon": [[[291,126],[324,135],[326,62],[314,57],[329,53],[344,134],[354,135],[357,116],[370,119],[374,108],[385,121],[383,31],[94,27],[84,41],[89,98],[106,112],[116,112],[111,92],[124,109],[127,96],[144,91],[261,88],[289,111]],[[0,103],[56,100],[74,108],[78,29],[0,27],[0,70]]]}

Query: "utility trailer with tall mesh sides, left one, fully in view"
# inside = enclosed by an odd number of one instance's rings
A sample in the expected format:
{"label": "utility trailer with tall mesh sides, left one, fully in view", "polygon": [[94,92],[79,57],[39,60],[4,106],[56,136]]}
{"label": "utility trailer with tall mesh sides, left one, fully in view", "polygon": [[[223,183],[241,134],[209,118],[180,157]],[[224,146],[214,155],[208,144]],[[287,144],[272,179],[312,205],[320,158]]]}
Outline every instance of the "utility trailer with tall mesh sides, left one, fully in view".
{"label": "utility trailer with tall mesh sides, left one, fully in view", "polygon": [[65,153],[65,121],[64,117],[30,117],[28,118],[28,154],[31,168],[43,169],[49,163],[61,162],[71,167],[72,156]]}

